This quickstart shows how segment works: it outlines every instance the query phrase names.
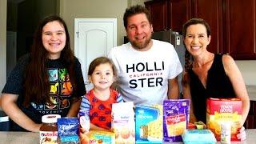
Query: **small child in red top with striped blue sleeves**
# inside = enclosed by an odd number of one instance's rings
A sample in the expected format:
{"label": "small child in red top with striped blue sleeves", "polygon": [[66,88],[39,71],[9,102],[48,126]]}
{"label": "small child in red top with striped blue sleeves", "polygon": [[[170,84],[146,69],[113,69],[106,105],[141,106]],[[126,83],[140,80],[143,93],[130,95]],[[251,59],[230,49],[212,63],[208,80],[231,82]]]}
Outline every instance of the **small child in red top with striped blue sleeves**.
{"label": "small child in red top with striped blue sleeves", "polygon": [[112,103],[123,102],[122,96],[110,86],[116,78],[109,58],[95,58],[88,70],[94,88],[82,97],[80,109],[90,110],[90,130],[110,130]]}

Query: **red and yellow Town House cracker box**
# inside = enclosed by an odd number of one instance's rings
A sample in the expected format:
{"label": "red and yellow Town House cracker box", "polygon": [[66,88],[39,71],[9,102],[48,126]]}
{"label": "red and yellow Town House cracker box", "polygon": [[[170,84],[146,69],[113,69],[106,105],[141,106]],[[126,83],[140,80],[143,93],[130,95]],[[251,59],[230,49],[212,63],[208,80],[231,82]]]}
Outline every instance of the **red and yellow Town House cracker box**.
{"label": "red and yellow Town House cracker box", "polygon": [[231,141],[238,141],[237,134],[242,121],[242,101],[238,98],[208,98],[206,125],[216,139],[221,137],[221,123],[230,122]]}

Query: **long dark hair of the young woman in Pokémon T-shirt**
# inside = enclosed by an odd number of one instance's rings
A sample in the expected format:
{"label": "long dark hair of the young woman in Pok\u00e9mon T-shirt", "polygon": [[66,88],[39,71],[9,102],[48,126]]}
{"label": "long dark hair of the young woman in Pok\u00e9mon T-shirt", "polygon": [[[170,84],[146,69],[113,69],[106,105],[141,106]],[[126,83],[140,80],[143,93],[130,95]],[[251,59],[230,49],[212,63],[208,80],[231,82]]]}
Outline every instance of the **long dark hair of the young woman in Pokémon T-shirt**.
{"label": "long dark hair of the young woman in Pok\u00e9mon T-shirt", "polygon": [[59,22],[65,29],[66,46],[61,52],[60,59],[64,66],[68,69],[70,82],[73,87],[73,94],[76,91],[75,76],[74,76],[74,54],[70,49],[70,34],[67,30],[64,20],[56,15],[51,15],[39,23],[37,30],[34,33],[34,42],[31,47],[30,61],[26,67],[24,75],[25,85],[24,94],[25,99],[22,103],[24,106],[29,106],[30,102],[35,103],[52,103],[50,102],[50,82],[46,63],[49,61],[48,51],[42,44],[42,28],[48,22]]}

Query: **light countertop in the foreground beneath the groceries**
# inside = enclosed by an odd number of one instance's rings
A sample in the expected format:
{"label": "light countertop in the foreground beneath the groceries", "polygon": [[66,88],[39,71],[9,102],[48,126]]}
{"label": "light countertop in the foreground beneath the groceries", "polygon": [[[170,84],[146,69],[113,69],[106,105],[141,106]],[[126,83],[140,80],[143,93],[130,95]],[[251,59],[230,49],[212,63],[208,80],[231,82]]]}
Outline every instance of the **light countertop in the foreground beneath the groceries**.
{"label": "light countertop in the foreground beneath the groceries", "polygon": [[[246,130],[247,139],[242,142],[231,142],[231,143],[242,143],[251,144],[256,143],[256,129]],[[32,132],[0,132],[0,144],[36,144],[39,143],[39,133]],[[182,143],[182,142],[168,142],[168,143]],[[220,143],[220,142],[218,142]]]}

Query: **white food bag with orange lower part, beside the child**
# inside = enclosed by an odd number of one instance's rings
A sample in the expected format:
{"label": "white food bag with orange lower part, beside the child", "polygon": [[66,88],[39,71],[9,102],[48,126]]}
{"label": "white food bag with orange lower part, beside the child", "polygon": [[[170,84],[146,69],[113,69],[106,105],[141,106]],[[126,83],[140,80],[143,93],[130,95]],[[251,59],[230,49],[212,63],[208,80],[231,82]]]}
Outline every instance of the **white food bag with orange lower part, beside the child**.
{"label": "white food bag with orange lower part, beside the child", "polygon": [[134,102],[113,103],[112,130],[115,143],[135,143]]}

